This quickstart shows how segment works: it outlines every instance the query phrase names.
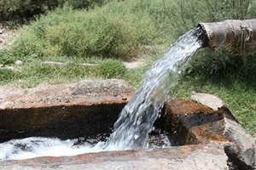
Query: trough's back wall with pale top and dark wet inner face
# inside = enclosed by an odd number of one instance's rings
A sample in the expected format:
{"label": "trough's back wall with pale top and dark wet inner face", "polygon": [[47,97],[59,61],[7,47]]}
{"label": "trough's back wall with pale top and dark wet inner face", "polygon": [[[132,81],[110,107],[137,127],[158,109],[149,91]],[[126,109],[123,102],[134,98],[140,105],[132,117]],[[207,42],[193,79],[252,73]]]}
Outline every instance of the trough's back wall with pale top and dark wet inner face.
{"label": "trough's back wall with pale top and dark wet inner face", "polygon": [[[101,92],[102,87],[108,91]],[[0,142],[38,135],[75,139],[109,133],[133,92],[134,88],[117,79],[0,88],[0,129],[9,132],[0,135]]]}

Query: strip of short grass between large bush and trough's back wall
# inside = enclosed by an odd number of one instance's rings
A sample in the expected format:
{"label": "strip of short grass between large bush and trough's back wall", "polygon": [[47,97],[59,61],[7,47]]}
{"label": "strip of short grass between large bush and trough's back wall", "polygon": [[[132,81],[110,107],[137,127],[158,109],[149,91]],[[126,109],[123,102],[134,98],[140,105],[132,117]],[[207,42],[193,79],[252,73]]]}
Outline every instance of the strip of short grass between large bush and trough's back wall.
{"label": "strip of short grass between large bush and trough's back wall", "polygon": [[[8,57],[3,57],[8,58]],[[65,66],[44,65],[44,61],[69,63]],[[0,85],[19,88],[33,88],[40,83],[59,84],[79,82],[82,79],[102,80],[106,78],[122,78],[136,86],[140,82],[143,69],[126,69],[119,59],[84,58],[84,57],[49,57],[46,59],[26,58],[23,65],[15,65],[15,60],[6,63],[13,66],[14,71],[0,69]],[[96,67],[84,67],[81,63],[97,64]],[[136,78],[134,78],[136,77]]]}

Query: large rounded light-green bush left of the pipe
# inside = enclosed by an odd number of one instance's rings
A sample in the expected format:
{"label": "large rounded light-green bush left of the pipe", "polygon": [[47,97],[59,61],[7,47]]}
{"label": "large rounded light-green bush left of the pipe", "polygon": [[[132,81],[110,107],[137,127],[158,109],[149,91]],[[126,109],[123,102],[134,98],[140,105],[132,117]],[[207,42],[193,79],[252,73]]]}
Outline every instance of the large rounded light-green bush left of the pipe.
{"label": "large rounded light-green bush left of the pipe", "polygon": [[[139,44],[154,37],[150,19],[137,15],[105,13],[102,8],[50,12],[27,26],[16,38],[15,56],[135,55]],[[146,29],[147,28],[147,29]]]}

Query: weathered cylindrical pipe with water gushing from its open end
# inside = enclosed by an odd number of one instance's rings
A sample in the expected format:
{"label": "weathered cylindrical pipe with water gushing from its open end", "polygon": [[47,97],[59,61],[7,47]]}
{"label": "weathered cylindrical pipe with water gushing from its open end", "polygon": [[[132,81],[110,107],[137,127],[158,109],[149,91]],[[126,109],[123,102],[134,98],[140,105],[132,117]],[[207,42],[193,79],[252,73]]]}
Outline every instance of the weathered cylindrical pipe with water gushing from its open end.
{"label": "weathered cylindrical pipe with water gushing from its open end", "polygon": [[256,42],[256,19],[224,20],[215,23],[200,23],[204,47],[241,47]]}

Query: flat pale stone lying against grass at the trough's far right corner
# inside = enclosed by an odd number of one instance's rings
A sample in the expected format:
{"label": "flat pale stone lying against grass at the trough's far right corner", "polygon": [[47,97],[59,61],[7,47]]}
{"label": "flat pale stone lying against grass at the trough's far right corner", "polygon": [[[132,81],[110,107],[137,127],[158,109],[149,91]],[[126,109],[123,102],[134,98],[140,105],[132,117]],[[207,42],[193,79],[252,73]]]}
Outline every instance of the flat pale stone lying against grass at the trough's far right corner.
{"label": "flat pale stone lying against grass at the trough's far right corner", "polygon": [[191,99],[201,105],[207,105],[214,111],[218,111],[218,108],[221,108],[224,105],[224,102],[221,99],[212,94],[193,93]]}

